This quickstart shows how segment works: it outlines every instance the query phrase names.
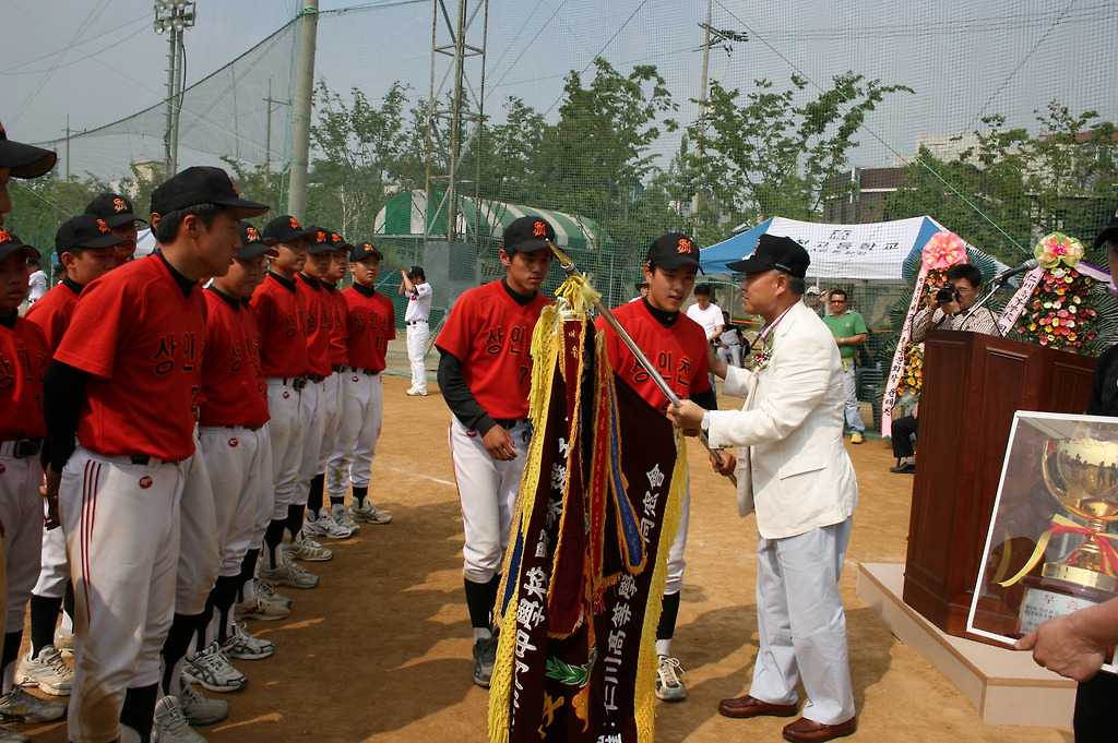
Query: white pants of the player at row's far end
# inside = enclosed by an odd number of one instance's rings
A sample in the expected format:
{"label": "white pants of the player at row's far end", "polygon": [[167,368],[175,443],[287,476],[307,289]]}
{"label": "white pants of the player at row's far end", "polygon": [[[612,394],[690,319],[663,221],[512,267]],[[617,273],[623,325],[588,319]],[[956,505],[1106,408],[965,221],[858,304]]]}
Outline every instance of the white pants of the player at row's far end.
{"label": "white pants of the player at row's far end", "polygon": [[332,498],[344,497],[350,484],[369,486],[385,408],[380,374],[347,370],[341,378],[344,412],[326,468],[326,493]]}

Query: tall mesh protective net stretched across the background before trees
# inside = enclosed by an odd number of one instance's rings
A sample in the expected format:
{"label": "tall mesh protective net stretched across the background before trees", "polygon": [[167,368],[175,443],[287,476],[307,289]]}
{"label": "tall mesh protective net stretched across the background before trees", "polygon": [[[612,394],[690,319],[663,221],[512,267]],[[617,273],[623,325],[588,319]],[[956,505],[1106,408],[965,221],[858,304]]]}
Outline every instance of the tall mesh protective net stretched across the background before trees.
{"label": "tall mesh protective net stretched across the background before trees", "polygon": [[[455,123],[459,10],[467,54]],[[302,22],[183,95],[179,166],[224,165],[274,213],[288,203]],[[1115,28],[1118,4],[1089,0],[323,9],[306,221],[376,242],[389,296],[400,268],[424,266],[433,330],[462,290],[501,274],[503,227],[522,213],[550,218],[607,305],[635,295],[659,235],[714,246],[773,218],[930,218],[985,257],[987,279],[1060,230],[1105,267],[1090,244],[1118,206]],[[428,127],[432,108],[439,115]],[[53,179],[19,184],[13,228],[49,245],[106,187],[146,209],[163,177],[164,126],[158,105],[49,143],[63,160]],[[891,313],[911,296],[904,263],[932,232],[881,242],[840,235],[826,249],[851,259],[808,276],[823,293],[847,289],[865,316],[868,401],[880,400]],[[714,302],[748,321],[737,277],[709,278]],[[560,280],[552,267],[548,288]],[[401,350],[390,371],[407,373]]]}

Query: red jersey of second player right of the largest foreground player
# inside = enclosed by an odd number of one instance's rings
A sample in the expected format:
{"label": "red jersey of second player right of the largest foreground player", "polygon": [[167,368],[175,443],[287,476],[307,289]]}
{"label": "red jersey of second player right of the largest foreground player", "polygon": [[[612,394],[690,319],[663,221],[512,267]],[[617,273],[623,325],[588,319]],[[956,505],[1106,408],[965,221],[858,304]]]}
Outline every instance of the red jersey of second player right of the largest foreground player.
{"label": "red jersey of second player right of the largest foreground player", "polygon": [[306,301],[294,280],[268,274],[256,287],[249,306],[260,328],[260,369],[266,377],[310,373],[306,356]]}

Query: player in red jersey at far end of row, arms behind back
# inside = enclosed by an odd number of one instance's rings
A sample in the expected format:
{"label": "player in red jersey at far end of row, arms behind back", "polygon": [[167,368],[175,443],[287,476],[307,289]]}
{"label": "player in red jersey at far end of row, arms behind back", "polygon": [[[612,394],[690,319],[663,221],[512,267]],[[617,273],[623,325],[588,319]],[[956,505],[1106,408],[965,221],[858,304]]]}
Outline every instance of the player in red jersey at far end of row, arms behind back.
{"label": "player in red jersey at far end of row, arms behind back", "polygon": [[372,505],[369,478],[383,413],[380,372],[385,370],[388,342],[396,337],[396,311],[391,301],[376,288],[383,259],[380,250],[371,242],[362,242],[349,258],[353,286],[342,292],[348,366],[339,374],[343,415],[326,468],[326,489],[330,508],[335,512],[352,484],[349,515],[356,522],[386,524],[392,517]]}

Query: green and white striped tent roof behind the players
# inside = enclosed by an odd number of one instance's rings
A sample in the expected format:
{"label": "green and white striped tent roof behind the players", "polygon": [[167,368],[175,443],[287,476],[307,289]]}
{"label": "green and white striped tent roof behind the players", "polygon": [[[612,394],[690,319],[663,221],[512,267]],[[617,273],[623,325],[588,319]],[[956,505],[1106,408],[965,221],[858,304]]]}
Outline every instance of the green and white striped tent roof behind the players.
{"label": "green and white striped tent roof behind the players", "polygon": [[[432,204],[433,218],[427,234],[446,235],[446,206],[443,203],[443,194],[436,191],[432,196],[435,198],[435,202]],[[437,215],[434,213],[435,209],[438,209]],[[377,212],[373,230],[378,235],[423,235],[425,213],[427,213],[426,191],[421,189],[401,191],[389,199],[388,203]],[[598,240],[603,237],[605,238],[605,247],[613,245],[613,240],[608,236],[603,236],[598,226],[585,217],[551,209],[467,197],[458,197],[457,229],[455,231],[458,235],[473,237],[476,221],[479,225],[477,238],[500,240],[504,235],[504,228],[518,217],[525,215],[543,217],[551,222],[556,229],[556,245],[560,248],[593,250],[598,247]]]}

